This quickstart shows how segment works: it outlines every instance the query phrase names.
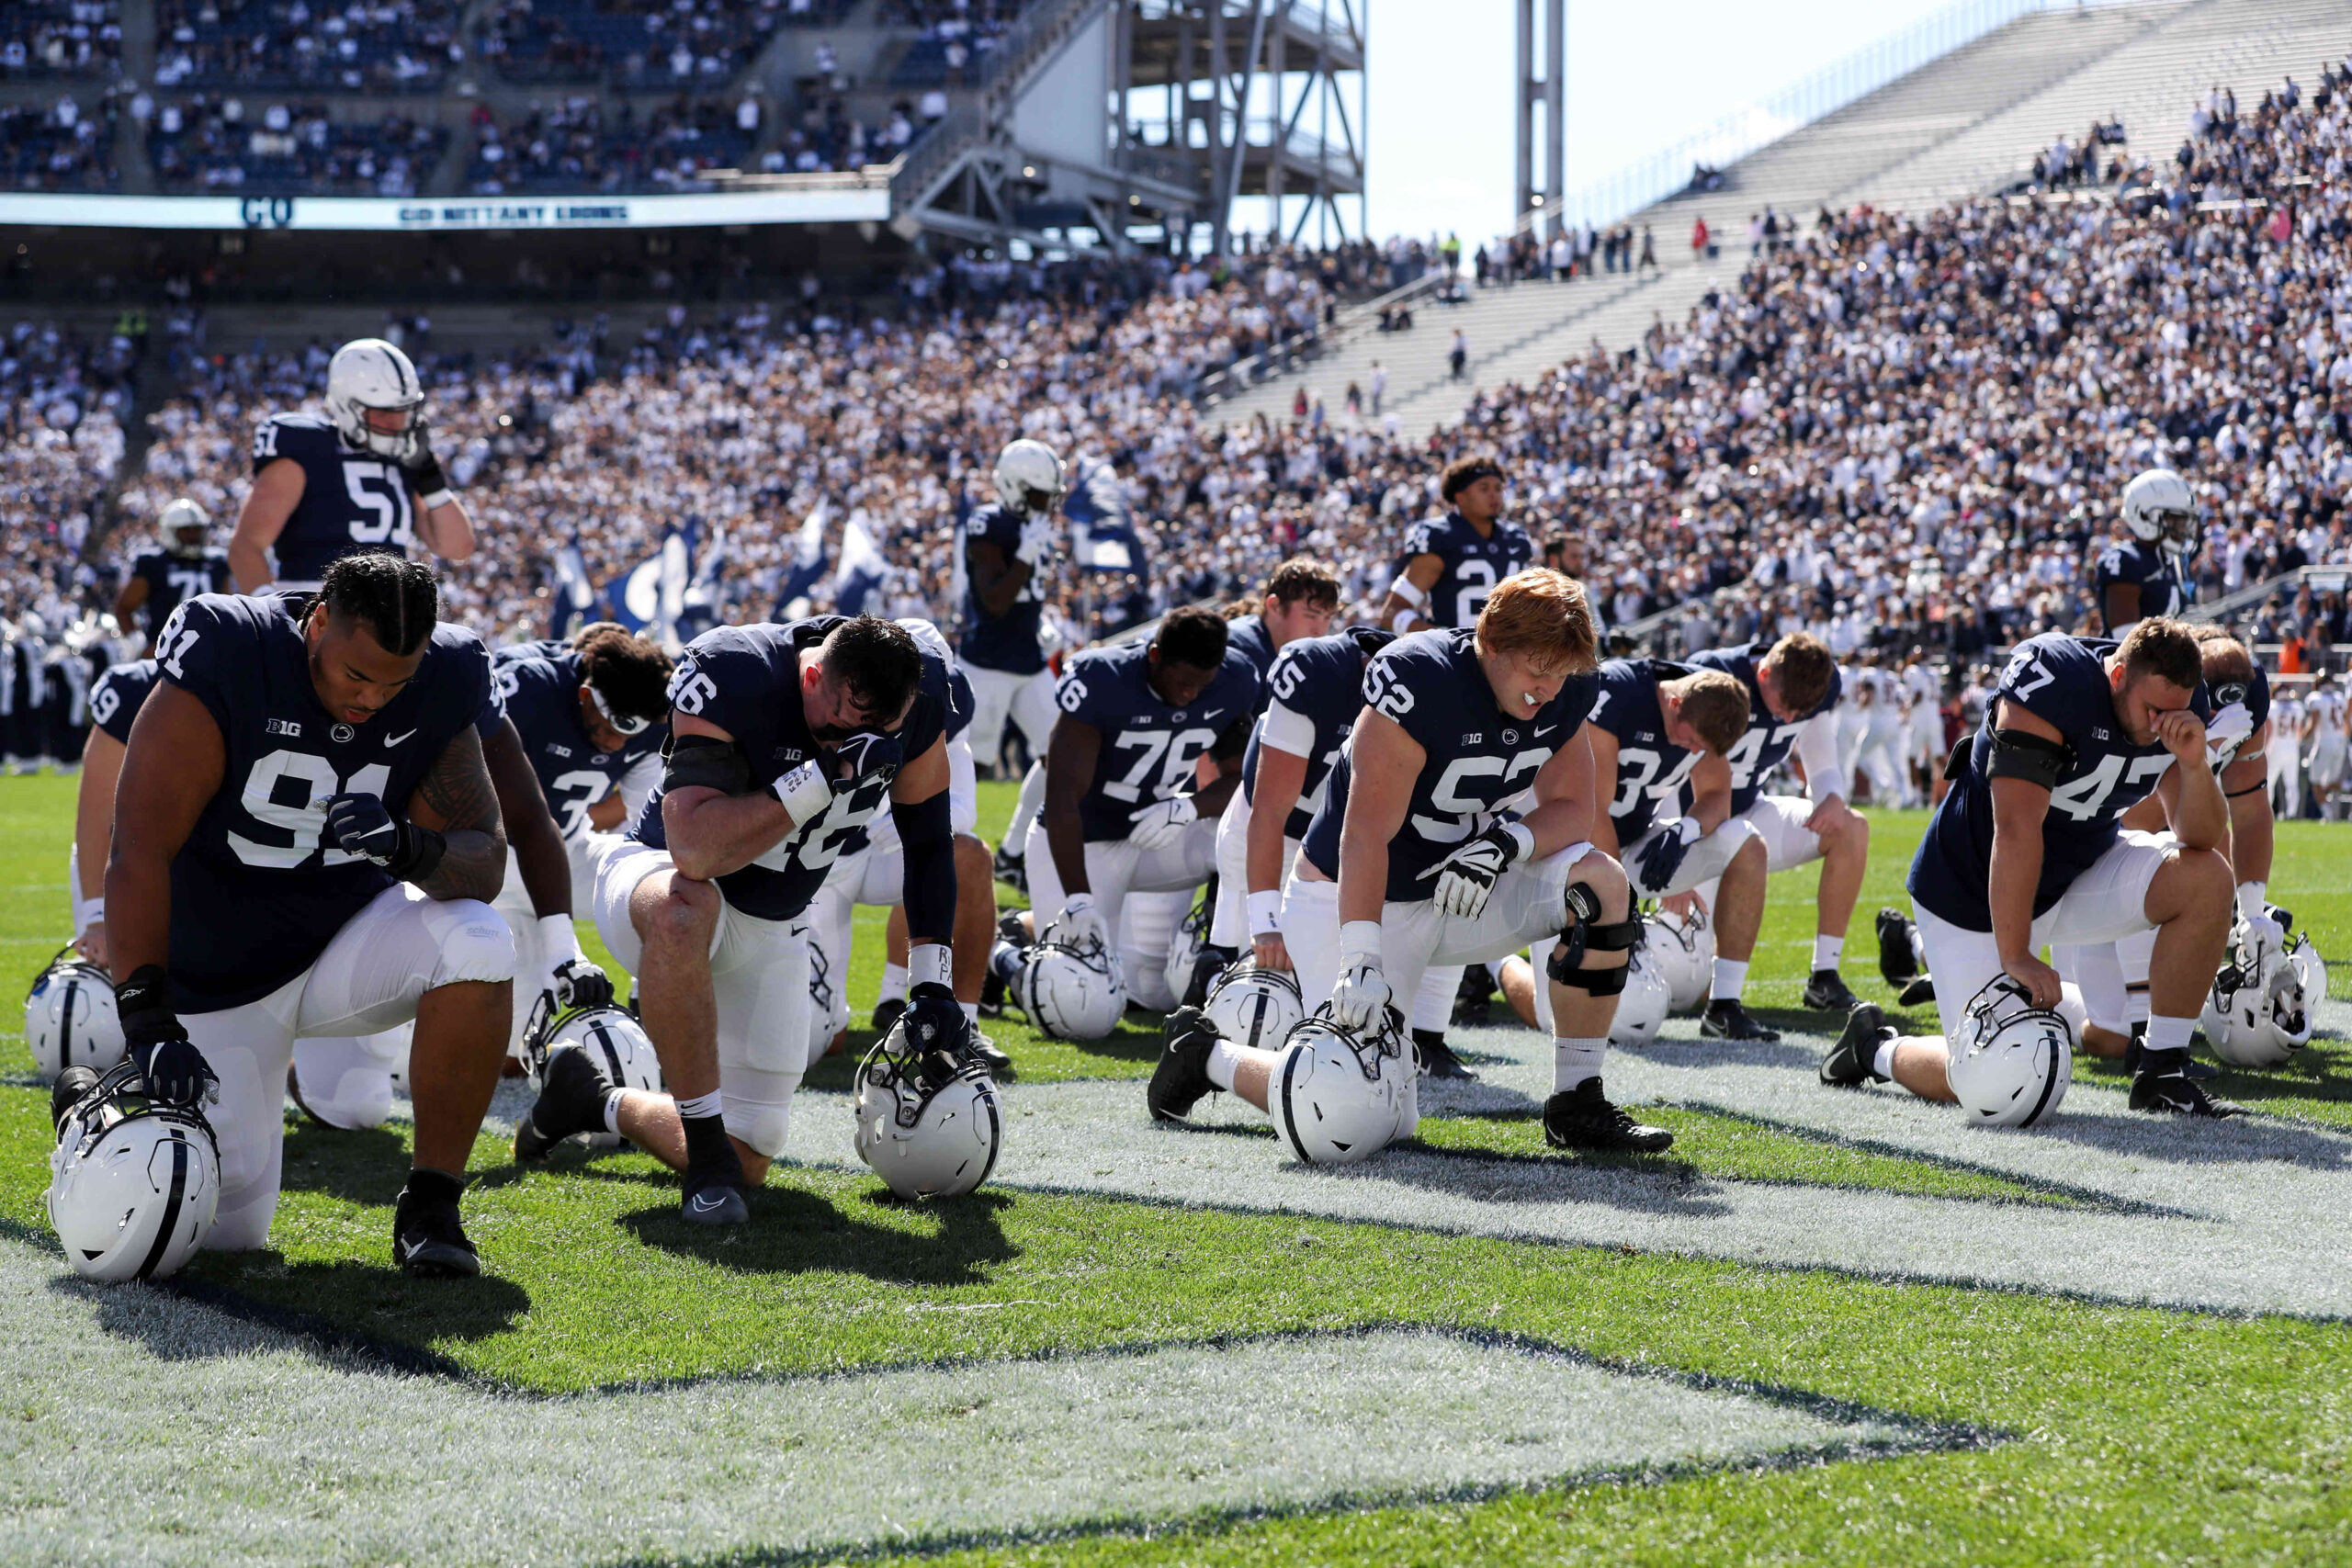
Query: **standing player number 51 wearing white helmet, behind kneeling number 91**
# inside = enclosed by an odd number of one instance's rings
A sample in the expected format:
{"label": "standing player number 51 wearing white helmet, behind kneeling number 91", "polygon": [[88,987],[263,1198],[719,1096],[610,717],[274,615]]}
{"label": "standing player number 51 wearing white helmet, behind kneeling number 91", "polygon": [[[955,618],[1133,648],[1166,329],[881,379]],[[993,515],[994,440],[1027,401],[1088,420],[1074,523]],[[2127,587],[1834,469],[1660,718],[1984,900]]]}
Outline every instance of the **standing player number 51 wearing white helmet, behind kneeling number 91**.
{"label": "standing player number 51 wearing white helmet, behind kneeling number 91", "polygon": [[[409,357],[383,339],[355,339],[327,362],[327,416],[270,414],[254,430],[254,487],[228,538],[240,592],[275,581],[315,590],[343,555],[473,555],[473,520],[449,489],[426,390]],[[270,552],[278,569],[270,571]]]}

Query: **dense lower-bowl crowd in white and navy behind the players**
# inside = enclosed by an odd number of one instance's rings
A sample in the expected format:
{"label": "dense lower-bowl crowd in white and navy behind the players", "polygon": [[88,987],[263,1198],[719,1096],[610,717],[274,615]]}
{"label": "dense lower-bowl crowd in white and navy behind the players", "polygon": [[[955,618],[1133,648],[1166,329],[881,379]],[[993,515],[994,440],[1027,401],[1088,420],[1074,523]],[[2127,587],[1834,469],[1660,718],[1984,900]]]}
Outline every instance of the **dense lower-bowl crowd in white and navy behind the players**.
{"label": "dense lower-bowl crowd in white and navy behind the players", "polygon": [[[1230,595],[1291,550],[1334,562],[1352,607],[1376,602],[1461,451],[1503,456],[1517,517],[1611,625],[1670,611],[1668,651],[1811,628],[1839,651],[1969,661],[2089,625],[2114,496],[2159,463],[2204,503],[2199,597],[2352,562],[2347,80],[2204,118],[2150,188],[1828,214],[1686,322],[1496,388],[1454,430],[1319,409],[1221,430],[1188,397],[1348,277],[1385,282],[1374,247],[1230,275],[957,259],[910,273],[896,320],[830,299],[774,320],[677,310],[642,343],[576,334],[428,367],[489,541],[452,571],[454,599],[532,635],[553,548],[576,536],[609,581],[691,520],[727,538],[727,614],[764,616],[823,501],[863,515],[896,611],[953,616],[957,517],[1011,435],[1110,463],[1152,607]],[[318,397],[325,355],[308,360],[214,369],[165,414],[125,512],[181,487],[233,512],[252,423]],[[1068,567],[1056,614],[1091,635],[1080,621],[1127,597]],[[2345,632],[2340,592],[2267,616],[2258,635]]]}

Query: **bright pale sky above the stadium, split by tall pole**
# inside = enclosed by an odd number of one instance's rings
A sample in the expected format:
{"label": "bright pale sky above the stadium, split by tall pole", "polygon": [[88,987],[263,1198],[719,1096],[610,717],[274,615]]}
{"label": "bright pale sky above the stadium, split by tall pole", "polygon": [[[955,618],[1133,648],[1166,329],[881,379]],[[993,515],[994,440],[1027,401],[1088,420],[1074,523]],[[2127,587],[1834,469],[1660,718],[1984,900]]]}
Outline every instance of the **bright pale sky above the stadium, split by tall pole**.
{"label": "bright pale sky above the stadium, split by tall pole", "polygon": [[[1569,0],[1569,186],[1672,146],[1947,2]],[[1371,0],[1376,235],[1451,228],[1475,244],[1510,223],[1512,16],[1512,0]]]}

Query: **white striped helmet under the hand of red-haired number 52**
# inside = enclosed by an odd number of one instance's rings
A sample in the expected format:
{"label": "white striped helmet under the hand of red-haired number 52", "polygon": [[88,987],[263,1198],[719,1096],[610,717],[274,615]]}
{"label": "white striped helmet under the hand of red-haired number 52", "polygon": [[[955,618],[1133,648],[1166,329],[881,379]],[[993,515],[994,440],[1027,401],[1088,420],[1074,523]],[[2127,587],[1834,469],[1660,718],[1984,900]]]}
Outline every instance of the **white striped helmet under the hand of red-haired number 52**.
{"label": "white striped helmet under the hand of red-haired number 52", "polygon": [[1395,1009],[1376,1030],[1343,1030],[1329,1004],[1291,1030],[1265,1103],[1275,1135],[1310,1166],[1352,1166],[1421,1126],[1421,1053]]}

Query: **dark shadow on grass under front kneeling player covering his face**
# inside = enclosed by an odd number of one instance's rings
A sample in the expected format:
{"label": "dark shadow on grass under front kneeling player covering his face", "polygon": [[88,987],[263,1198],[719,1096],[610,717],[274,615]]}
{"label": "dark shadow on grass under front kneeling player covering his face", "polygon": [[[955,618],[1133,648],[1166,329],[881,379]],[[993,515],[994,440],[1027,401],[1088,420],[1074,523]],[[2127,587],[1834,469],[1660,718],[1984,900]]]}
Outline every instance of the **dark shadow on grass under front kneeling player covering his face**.
{"label": "dark shadow on grass under front kneeling player covering his face", "polygon": [[[750,1192],[750,1225],[713,1229],[687,1225],[677,1204],[621,1215],[644,1246],[699,1258],[739,1274],[856,1272],[882,1284],[976,1286],[995,1265],[1018,1255],[1004,1239],[1004,1192],[971,1192],[941,1204],[906,1206],[889,1192],[844,1194],[833,1201],[797,1187]],[[863,1206],[915,1208],[929,1227],[875,1225]]]}

